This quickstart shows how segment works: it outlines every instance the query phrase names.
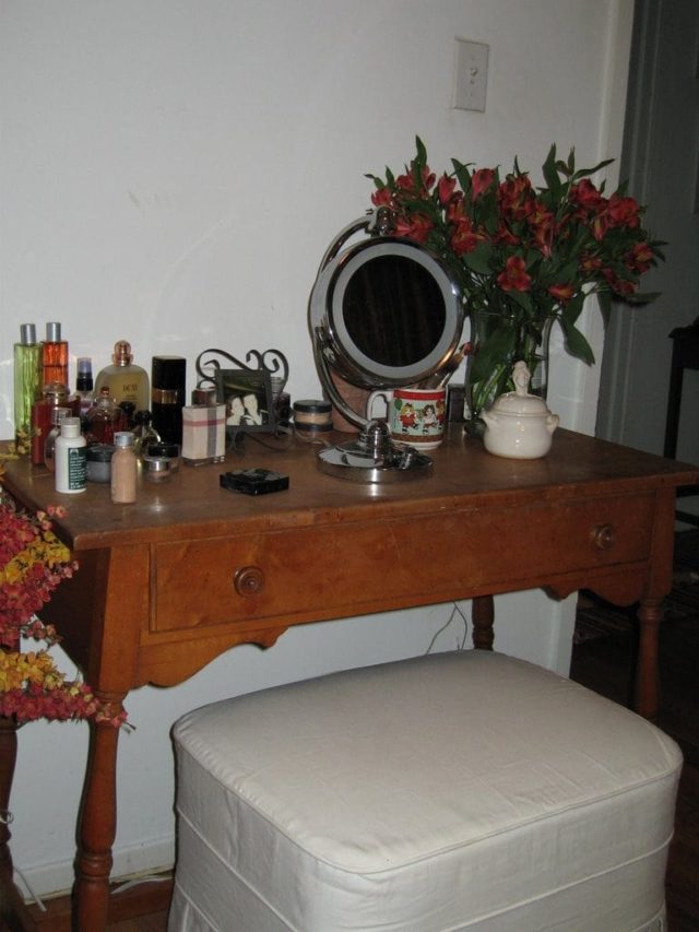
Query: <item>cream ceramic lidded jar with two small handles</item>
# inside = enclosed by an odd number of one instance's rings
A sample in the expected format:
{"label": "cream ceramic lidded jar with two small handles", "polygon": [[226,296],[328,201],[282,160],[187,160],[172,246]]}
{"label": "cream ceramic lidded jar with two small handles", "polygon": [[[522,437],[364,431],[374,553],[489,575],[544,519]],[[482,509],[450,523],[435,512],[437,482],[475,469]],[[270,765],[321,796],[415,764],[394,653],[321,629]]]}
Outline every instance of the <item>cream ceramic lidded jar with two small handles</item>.
{"label": "cream ceramic lidded jar with two small handles", "polygon": [[528,392],[530,371],[524,363],[516,363],[512,373],[516,390],[501,394],[483,412],[483,444],[489,453],[509,459],[535,460],[550,449],[559,418],[546,402]]}

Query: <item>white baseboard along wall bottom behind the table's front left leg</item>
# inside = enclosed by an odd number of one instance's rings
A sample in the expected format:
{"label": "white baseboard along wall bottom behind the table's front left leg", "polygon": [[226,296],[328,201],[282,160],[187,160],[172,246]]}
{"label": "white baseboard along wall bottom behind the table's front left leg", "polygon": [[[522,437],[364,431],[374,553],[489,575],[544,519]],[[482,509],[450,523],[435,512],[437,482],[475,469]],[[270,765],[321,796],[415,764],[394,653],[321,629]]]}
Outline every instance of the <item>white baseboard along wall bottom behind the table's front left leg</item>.
{"label": "white baseboard along wall bottom behind the table's front left leg", "polygon": [[[134,877],[146,874],[162,874],[173,869],[175,863],[175,839],[154,839],[140,842],[131,848],[115,848],[114,882],[130,882]],[[33,893],[39,899],[52,899],[70,893],[73,886],[73,860],[57,861],[49,864],[24,866],[19,864],[15,870],[15,884],[26,901],[34,899]]]}

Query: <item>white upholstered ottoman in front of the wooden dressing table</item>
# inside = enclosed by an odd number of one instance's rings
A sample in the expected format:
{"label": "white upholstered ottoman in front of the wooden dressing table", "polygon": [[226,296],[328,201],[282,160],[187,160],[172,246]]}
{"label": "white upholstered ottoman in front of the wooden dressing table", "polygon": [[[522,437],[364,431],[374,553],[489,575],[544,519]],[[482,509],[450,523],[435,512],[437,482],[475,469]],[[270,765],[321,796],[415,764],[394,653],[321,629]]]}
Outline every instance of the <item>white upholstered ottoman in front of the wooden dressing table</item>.
{"label": "white upholstered ottoman in front of the wooden dressing table", "polygon": [[486,651],[254,693],[174,729],[170,932],[656,932],[682,757]]}

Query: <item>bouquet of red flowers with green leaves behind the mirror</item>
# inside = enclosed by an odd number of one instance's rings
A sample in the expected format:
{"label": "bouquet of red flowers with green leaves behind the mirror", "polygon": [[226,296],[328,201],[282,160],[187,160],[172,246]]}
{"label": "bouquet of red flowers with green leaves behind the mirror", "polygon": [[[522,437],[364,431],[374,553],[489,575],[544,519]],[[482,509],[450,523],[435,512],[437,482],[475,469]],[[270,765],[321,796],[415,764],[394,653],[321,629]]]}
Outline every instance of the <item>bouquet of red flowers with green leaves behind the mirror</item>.
{"label": "bouquet of red flowers with green leaves behind the mirror", "polygon": [[[624,186],[609,197],[604,181],[590,176],[609,165],[576,168],[556,157],[552,145],[543,165],[545,187],[535,188],[517,158],[512,172],[474,168],[452,160],[439,178],[430,170],[419,138],[416,155],[403,174],[367,177],[375,207],[394,214],[395,235],[431,250],[460,284],[472,320],[473,356],[469,381],[472,412],[506,388],[514,362],[534,371],[536,355],[557,320],[568,352],[594,363],[590,344],[577,327],[585,297],[596,294],[605,316],[612,299],[641,304],[641,275],[663,259],[641,224],[643,208]],[[478,315],[490,325],[488,339],[474,340]],[[485,332],[485,331],[484,331]]]}

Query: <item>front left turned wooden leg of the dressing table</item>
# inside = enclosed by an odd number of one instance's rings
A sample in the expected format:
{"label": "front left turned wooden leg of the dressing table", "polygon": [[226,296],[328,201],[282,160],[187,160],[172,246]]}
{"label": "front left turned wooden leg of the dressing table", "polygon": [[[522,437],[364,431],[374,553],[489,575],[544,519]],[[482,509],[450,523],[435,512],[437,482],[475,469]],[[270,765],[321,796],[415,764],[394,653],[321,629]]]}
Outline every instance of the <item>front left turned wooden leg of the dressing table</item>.
{"label": "front left turned wooden leg of the dressing table", "polygon": [[[121,708],[121,701],[111,701],[111,709]],[[118,740],[118,728],[108,722],[91,722],[75,859],[75,932],[102,932],[107,925],[111,846],[117,829]]]}

